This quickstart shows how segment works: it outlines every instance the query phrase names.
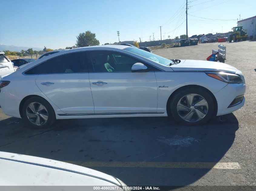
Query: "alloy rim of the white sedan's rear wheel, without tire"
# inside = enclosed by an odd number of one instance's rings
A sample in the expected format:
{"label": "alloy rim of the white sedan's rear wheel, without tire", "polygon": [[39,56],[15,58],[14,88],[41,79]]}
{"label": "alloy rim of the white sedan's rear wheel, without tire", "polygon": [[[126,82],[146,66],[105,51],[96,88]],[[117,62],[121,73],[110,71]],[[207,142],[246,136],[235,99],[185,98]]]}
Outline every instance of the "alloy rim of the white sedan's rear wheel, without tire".
{"label": "alloy rim of the white sedan's rear wheel, without tire", "polygon": [[28,104],[26,115],[29,121],[37,126],[44,125],[48,120],[48,111],[44,105],[38,102]]}

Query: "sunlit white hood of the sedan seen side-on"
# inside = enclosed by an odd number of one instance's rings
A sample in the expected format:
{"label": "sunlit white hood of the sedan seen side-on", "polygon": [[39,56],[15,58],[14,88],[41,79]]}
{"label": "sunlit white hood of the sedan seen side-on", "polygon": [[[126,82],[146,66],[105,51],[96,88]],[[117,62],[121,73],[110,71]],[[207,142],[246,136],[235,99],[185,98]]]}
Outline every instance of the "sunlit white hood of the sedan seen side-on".
{"label": "sunlit white hood of the sedan seen side-on", "polygon": [[180,63],[170,66],[174,71],[223,71],[235,73],[237,69],[221,62],[204,60],[181,60]]}

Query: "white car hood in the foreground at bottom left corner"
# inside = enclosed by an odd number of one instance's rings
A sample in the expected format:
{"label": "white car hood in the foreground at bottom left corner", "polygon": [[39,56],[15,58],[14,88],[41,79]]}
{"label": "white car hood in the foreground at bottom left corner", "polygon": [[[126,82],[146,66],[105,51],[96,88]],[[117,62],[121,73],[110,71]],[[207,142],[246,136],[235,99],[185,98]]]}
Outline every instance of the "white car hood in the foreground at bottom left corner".
{"label": "white car hood in the foreground at bottom left corner", "polygon": [[0,152],[0,186],[120,186],[108,174],[46,158]]}

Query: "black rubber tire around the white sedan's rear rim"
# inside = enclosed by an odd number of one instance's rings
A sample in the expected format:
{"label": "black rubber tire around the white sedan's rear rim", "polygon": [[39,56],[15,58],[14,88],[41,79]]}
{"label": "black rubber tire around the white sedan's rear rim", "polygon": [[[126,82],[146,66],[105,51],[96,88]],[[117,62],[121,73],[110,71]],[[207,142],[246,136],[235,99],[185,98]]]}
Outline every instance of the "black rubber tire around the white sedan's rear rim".
{"label": "black rubber tire around the white sedan's rear rim", "polygon": [[[47,120],[45,123],[43,123],[43,119],[41,118],[42,121],[42,125],[36,125],[35,123],[32,123],[32,120],[34,119],[28,119],[28,115],[27,115],[27,110],[28,110],[28,106],[34,103],[33,105],[39,103],[42,104],[42,106],[45,107],[46,109],[46,113],[47,113]],[[38,104],[37,104],[38,105]],[[39,106],[38,106],[39,107]],[[35,109],[35,108],[34,108]],[[45,111],[45,110],[44,110]],[[36,111],[37,112],[37,111]],[[40,113],[40,112],[39,112]],[[22,107],[22,114],[23,114],[23,119],[25,120],[26,123],[28,123],[29,125],[36,127],[38,129],[45,129],[45,128],[49,128],[53,123],[55,123],[56,121],[56,116],[55,116],[55,111],[53,110],[51,104],[45,100],[42,97],[31,97],[28,100],[25,101],[23,107]],[[32,114],[33,115],[33,114]],[[36,114],[35,114],[36,115]],[[39,114],[38,114],[39,115]],[[46,115],[46,114],[45,114]],[[36,116],[35,116],[36,117]],[[38,117],[38,116],[37,116]]]}

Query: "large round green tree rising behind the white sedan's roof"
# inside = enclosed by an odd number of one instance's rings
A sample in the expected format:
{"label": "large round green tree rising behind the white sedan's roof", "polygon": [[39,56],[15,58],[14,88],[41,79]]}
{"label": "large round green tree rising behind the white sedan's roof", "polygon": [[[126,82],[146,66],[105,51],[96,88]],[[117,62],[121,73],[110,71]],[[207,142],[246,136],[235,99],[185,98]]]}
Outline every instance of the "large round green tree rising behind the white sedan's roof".
{"label": "large round green tree rising behind the white sedan's roof", "polygon": [[76,37],[76,46],[84,47],[89,45],[99,45],[100,42],[95,38],[96,34],[91,33],[90,30],[87,30],[85,33],[79,33]]}

